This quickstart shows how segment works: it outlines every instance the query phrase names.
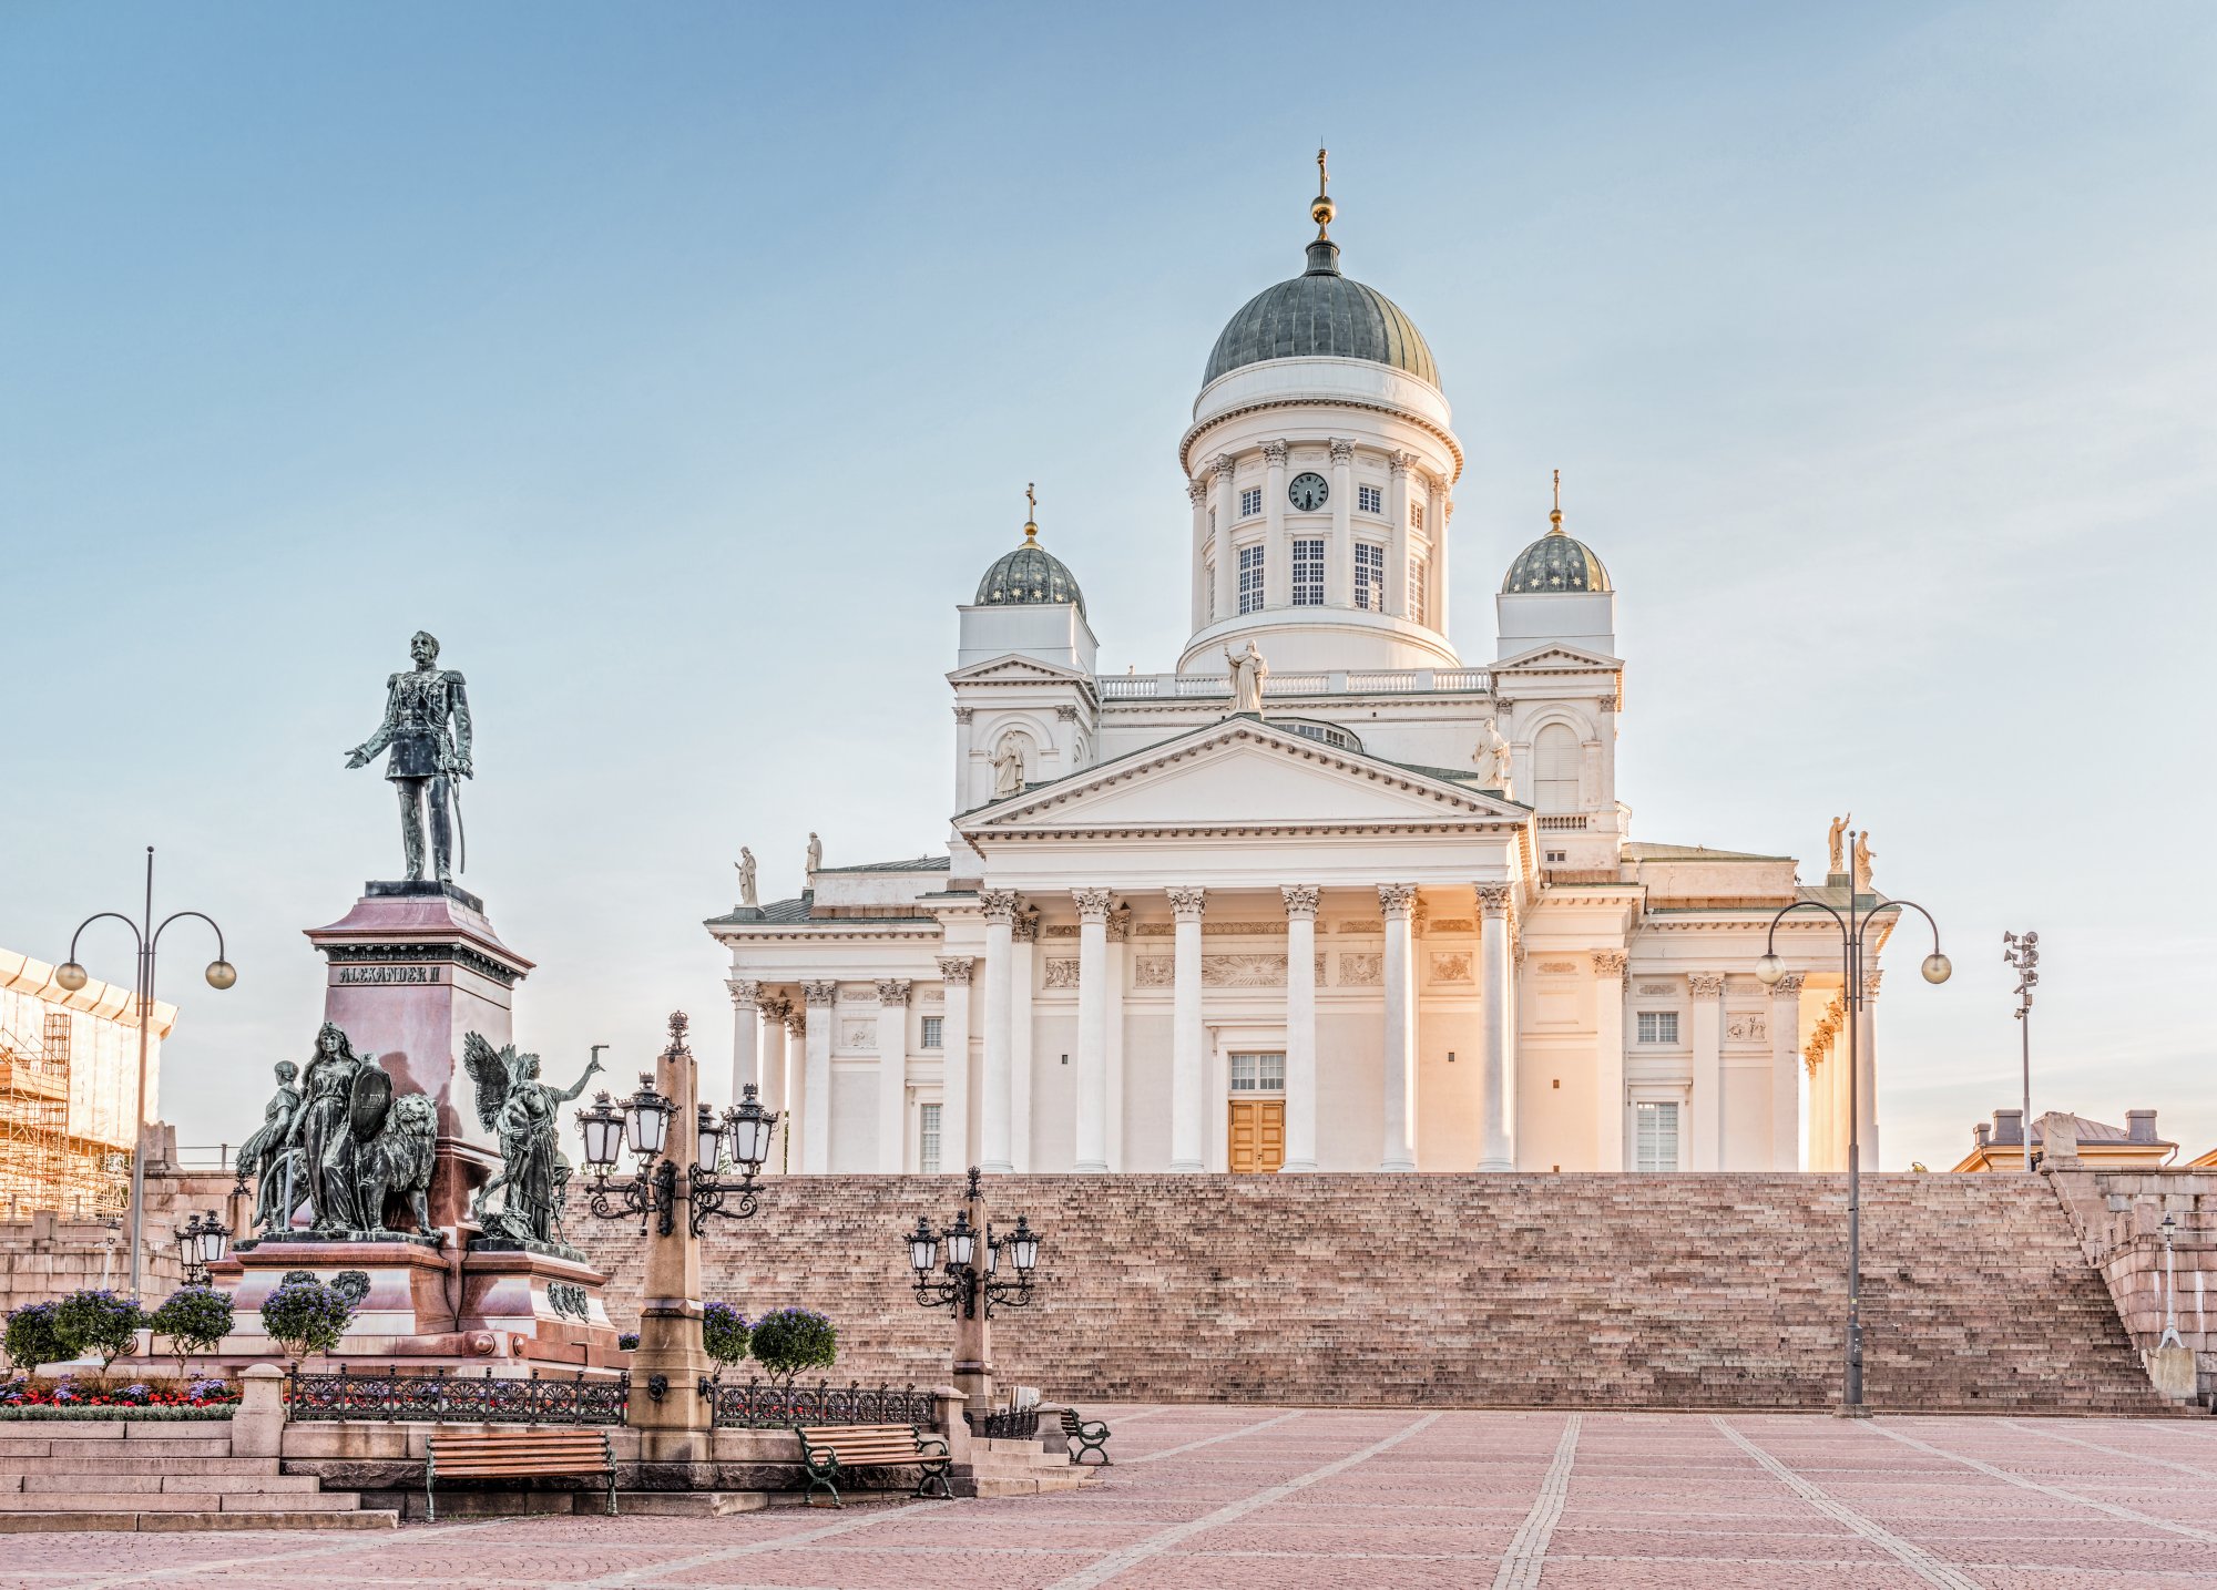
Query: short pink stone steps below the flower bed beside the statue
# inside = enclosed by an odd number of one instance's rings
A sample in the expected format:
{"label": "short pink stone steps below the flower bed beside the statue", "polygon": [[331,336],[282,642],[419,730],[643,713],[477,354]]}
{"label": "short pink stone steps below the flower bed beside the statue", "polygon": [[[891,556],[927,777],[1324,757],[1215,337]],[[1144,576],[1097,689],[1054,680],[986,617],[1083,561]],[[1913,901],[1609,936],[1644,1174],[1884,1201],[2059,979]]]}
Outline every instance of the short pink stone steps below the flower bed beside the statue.
{"label": "short pink stone steps below the flower bed beside the statue", "polygon": [[350,1490],[233,1457],[222,1424],[0,1424],[0,1535],[42,1530],[388,1530]]}

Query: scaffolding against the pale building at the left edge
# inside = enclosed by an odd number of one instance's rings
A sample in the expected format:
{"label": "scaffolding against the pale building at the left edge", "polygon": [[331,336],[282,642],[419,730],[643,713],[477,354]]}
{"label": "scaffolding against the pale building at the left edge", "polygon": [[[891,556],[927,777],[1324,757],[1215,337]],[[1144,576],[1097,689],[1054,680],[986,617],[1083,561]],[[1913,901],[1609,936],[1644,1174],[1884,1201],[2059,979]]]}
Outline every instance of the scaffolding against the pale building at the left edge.
{"label": "scaffolding against the pale building at the left edge", "polygon": [[0,1214],[100,1218],[131,1205],[131,1154],[69,1132],[67,1010],[38,1036],[0,1028]]}

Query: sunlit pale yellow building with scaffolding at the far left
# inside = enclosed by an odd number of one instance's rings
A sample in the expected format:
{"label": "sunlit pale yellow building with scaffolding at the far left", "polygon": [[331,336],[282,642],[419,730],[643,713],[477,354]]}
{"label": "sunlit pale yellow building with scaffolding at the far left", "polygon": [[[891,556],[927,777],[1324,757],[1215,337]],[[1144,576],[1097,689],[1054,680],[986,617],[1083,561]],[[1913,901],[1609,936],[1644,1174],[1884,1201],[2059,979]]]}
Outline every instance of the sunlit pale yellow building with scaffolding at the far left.
{"label": "sunlit pale yellow building with scaffolding at the far left", "polygon": [[177,1008],[155,1001],[140,1109],[133,990],[71,992],[47,961],[0,950],[0,1218],[129,1205],[133,1121],[155,1118],[162,1039],[175,1021]]}

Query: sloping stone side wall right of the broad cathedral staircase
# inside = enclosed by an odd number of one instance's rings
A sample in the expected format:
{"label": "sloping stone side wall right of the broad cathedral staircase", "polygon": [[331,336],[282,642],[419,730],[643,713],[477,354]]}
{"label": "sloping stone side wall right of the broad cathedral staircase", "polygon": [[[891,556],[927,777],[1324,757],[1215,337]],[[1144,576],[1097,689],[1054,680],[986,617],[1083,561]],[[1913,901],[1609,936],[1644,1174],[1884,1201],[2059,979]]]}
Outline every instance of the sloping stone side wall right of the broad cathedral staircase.
{"label": "sloping stone side wall right of the broad cathedral staircase", "polygon": [[2193,1349],[2204,1402],[2217,1397],[2217,1171],[2049,1169],[2086,1262],[2142,1353],[2164,1333],[2164,1236],[2173,1227],[2179,1340]]}

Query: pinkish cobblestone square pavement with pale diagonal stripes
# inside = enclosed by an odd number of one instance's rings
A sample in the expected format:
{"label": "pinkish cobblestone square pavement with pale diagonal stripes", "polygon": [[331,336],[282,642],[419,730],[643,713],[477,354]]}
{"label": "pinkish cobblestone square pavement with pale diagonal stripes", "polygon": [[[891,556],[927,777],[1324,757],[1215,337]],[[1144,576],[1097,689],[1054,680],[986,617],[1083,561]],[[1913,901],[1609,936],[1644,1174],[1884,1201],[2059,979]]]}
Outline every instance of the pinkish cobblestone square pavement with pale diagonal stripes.
{"label": "pinkish cobblestone square pavement with pale diagonal stripes", "polygon": [[0,1586],[2217,1586],[2217,1419],[1100,1413],[1117,1464],[1073,1495],[372,1537],[0,1535]]}

